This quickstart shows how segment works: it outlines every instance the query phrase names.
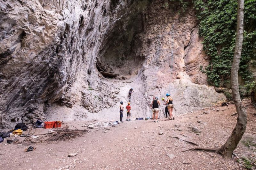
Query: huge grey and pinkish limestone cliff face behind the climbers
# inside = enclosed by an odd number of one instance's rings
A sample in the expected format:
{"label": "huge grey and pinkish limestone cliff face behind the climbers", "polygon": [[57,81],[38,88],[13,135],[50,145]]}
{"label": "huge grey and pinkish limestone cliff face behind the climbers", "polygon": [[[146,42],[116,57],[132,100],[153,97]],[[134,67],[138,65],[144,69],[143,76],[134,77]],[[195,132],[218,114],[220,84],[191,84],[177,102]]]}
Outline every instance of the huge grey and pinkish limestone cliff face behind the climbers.
{"label": "huge grey and pinkish limestone cliff face behind the climbers", "polygon": [[172,3],[0,0],[0,126],[112,119],[131,87],[134,116],[150,114],[152,95],[170,92],[177,114],[224,98],[200,72],[195,13]]}

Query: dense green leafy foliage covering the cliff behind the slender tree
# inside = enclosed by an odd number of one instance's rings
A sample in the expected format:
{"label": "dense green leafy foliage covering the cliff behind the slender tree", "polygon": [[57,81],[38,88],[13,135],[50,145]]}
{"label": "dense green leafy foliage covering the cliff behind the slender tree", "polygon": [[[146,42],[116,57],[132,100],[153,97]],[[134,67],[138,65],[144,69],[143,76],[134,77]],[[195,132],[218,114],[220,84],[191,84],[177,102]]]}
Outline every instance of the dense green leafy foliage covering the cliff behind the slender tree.
{"label": "dense green leafy foliage covering the cliff behind the slender tree", "polygon": [[[236,38],[236,0],[193,0],[199,20],[199,35],[204,37],[204,51],[210,56],[206,67],[208,82],[224,86],[230,81]],[[244,2],[244,41],[239,74],[252,80],[249,62],[256,58],[256,0]]]}

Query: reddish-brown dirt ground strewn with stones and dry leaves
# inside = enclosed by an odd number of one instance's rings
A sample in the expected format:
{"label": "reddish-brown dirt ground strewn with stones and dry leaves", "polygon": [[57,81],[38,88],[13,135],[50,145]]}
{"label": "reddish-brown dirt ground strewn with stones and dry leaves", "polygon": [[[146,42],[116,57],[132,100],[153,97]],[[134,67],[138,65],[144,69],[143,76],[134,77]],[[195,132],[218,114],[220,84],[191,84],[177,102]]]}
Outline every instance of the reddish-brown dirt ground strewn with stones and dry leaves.
{"label": "reddish-brown dirt ground strewn with stones and dry leaves", "polygon": [[[236,160],[255,153],[254,147],[240,142],[234,158],[224,160],[212,152],[182,152],[194,145],[171,138],[177,136],[200,147],[219,147],[235,126],[236,116],[230,116],[235,107],[212,109],[177,116],[171,121],[160,119],[158,123],[151,120],[124,122],[106,133],[102,132],[104,128],[92,129],[84,137],[70,141],[29,144],[36,147],[32,152],[23,152],[28,144],[6,144],[5,140],[0,144],[1,169],[243,169]],[[203,114],[203,111],[209,113]],[[248,125],[242,140],[252,138],[255,141],[255,110],[249,106],[247,111]],[[198,120],[201,123],[197,123]],[[69,127],[84,129],[81,124],[69,124]],[[189,124],[202,132],[198,135],[192,132]],[[46,129],[39,131],[47,132]],[[159,131],[164,133],[159,135]],[[69,153],[76,152],[75,157],[68,157]]]}

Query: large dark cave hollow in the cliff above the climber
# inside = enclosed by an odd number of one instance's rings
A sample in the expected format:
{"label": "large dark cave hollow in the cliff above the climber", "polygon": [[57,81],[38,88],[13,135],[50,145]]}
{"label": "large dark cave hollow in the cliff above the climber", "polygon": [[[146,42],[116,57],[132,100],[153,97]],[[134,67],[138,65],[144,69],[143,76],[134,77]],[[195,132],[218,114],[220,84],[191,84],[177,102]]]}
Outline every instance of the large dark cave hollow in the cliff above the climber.
{"label": "large dark cave hollow in the cliff above the climber", "polygon": [[141,53],[144,38],[143,14],[134,14],[128,21],[127,18],[118,20],[106,34],[97,56],[96,67],[99,72],[132,76],[141,69],[146,59]]}

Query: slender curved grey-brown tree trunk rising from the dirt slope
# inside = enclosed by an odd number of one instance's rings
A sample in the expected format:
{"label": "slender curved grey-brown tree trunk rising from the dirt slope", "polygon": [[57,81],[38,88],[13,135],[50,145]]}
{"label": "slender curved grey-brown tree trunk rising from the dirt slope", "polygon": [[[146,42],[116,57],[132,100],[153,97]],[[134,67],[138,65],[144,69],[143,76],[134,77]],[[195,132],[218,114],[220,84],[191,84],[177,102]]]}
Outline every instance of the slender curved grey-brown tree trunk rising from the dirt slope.
{"label": "slender curved grey-brown tree trunk rising from the dirt slope", "polygon": [[238,0],[237,7],[237,25],[236,25],[236,45],[233,63],[231,67],[231,89],[232,97],[237,111],[237,123],[236,127],[231,133],[230,137],[224,145],[220,147],[219,153],[224,158],[231,158],[233,151],[236,149],[237,144],[244,135],[244,131],[247,123],[247,114],[239,95],[238,88],[238,69],[241,58],[242,44],[243,44],[243,32],[244,32],[244,0]]}

